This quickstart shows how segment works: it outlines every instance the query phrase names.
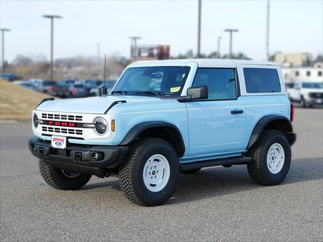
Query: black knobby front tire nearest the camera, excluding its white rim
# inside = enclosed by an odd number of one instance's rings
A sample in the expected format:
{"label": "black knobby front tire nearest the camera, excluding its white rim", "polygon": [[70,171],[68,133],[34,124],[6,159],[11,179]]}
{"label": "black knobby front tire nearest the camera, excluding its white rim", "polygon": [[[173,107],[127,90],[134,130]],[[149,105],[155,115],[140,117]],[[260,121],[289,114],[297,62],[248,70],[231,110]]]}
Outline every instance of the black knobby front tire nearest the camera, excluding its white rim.
{"label": "black knobby front tire nearest the camera, excluding its white rim", "polygon": [[[149,157],[155,154],[165,156],[170,165],[168,183],[159,192],[148,190],[143,179],[144,165]],[[129,147],[125,162],[119,169],[122,191],[131,202],[142,206],[157,206],[168,201],[177,186],[178,177],[178,154],[170,143],[158,138],[136,140]]]}

